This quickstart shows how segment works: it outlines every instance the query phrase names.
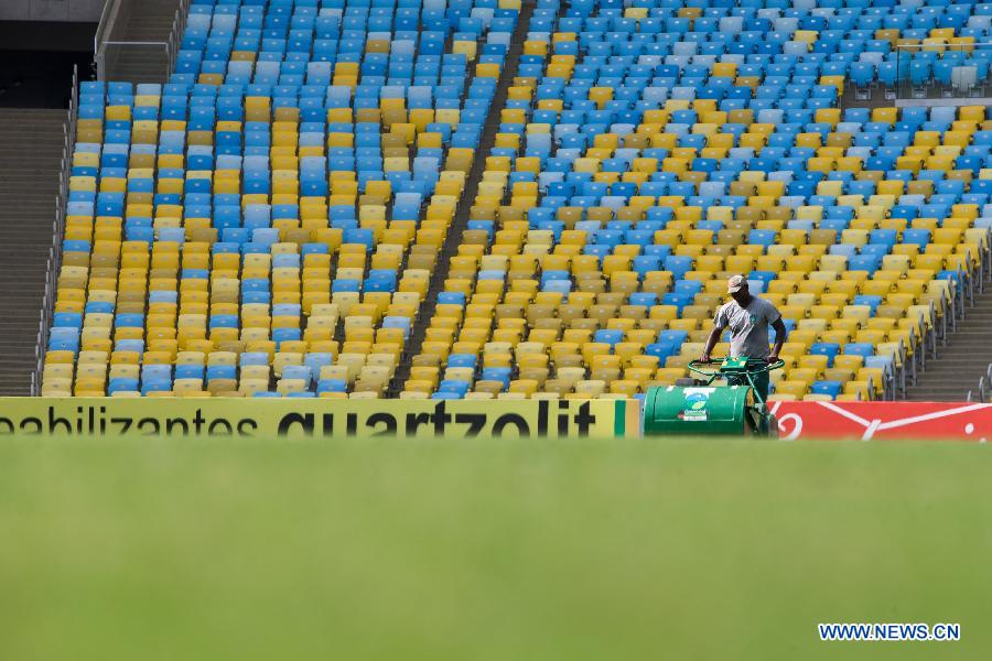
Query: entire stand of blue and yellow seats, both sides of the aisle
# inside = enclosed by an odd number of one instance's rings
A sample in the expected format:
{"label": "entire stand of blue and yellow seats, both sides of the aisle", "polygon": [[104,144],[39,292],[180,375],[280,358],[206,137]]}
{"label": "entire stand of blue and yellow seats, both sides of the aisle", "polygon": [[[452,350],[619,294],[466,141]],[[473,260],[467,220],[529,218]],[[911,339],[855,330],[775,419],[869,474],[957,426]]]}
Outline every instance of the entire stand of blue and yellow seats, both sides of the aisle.
{"label": "entire stand of blue and yellow seats, both sides of the aisle", "polygon": [[84,83],[43,394],[638,397],[740,272],[775,398],[892,397],[988,251],[992,117],[840,98],[984,80],[992,4],[539,0],[508,62],[519,15],[194,0],[168,84]]}

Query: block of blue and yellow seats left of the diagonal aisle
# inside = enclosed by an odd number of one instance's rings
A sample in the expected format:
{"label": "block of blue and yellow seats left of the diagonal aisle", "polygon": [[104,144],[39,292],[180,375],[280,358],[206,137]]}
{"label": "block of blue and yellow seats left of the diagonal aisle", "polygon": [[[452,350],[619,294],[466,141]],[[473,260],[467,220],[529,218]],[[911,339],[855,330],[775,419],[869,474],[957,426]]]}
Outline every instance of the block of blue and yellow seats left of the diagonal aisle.
{"label": "block of blue and yellow seats left of the diagonal aisle", "polygon": [[169,84],[84,84],[44,393],[380,395],[518,13],[194,2]]}

